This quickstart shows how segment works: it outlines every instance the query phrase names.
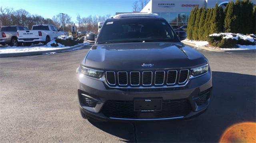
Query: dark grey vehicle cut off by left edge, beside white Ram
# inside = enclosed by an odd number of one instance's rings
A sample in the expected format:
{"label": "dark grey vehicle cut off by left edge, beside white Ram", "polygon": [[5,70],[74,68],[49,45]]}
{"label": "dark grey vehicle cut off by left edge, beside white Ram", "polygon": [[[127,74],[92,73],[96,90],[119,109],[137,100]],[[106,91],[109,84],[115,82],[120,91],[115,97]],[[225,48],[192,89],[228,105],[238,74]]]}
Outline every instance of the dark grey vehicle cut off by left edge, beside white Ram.
{"label": "dark grey vehicle cut off by left edge, beside white Ram", "polygon": [[10,46],[20,46],[22,43],[19,43],[17,40],[17,31],[26,31],[29,30],[24,26],[2,26],[1,35],[0,35],[0,45],[10,45]]}

